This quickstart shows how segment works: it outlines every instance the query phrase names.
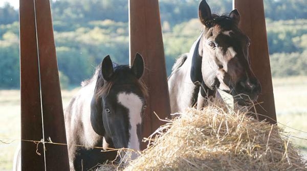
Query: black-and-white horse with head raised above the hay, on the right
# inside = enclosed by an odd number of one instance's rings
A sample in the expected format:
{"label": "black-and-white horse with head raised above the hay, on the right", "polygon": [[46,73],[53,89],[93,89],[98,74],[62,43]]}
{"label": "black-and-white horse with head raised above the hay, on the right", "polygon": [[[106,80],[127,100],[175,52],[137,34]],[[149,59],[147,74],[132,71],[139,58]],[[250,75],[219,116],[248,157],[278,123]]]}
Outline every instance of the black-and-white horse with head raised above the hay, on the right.
{"label": "black-and-white horse with head raised above the hay, on the right", "polygon": [[220,88],[239,105],[255,102],[261,86],[250,66],[250,39],[238,28],[240,15],[211,14],[203,0],[199,6],[203,31],[190,52],[176,61],[168,78],[171,112],[181,112],[197,103],[205,106],[208,97]]}

